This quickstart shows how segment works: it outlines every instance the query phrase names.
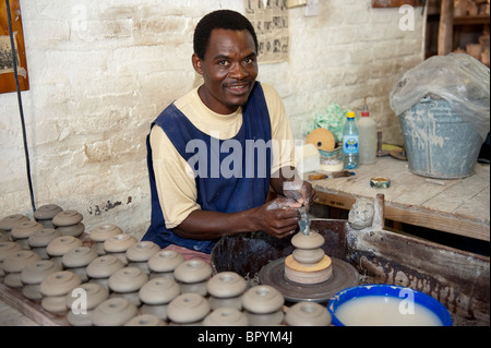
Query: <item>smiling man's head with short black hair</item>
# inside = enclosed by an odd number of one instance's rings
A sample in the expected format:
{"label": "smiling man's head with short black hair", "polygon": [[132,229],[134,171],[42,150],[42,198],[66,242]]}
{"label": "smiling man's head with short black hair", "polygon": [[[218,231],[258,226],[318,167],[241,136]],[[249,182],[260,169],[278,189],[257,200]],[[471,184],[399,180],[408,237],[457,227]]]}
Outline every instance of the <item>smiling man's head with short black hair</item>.
{"label": "smiling man's head with short black hair", "polygon": [[240,13],[219,10],[205,15],[194,32],[194,70],[203,75],[199,94],[217,113],[246,104],[258,76],[258,38]]}

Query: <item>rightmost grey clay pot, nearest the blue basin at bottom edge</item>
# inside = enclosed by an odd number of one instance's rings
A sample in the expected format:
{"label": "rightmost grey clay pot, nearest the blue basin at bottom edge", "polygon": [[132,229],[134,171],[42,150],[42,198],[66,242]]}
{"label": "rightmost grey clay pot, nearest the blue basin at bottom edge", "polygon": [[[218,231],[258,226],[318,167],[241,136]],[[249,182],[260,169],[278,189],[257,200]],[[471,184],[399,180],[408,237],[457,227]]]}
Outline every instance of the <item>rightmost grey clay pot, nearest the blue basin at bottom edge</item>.
{"label": "rightmost grey clay pot, nearest the blue basin at bottom edge", "polygon": [[289,326],[328,326],[331,314],[318,302],[298,302],[290,307],[285,321]]}

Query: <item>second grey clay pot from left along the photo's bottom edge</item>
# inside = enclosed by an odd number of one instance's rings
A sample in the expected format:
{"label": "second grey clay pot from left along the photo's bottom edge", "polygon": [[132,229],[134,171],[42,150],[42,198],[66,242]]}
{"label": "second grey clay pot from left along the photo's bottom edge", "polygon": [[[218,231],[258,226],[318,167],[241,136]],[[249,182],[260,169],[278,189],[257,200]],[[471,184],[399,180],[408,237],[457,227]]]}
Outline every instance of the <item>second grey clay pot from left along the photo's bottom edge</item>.
{"label": "second grey clay pot from left along the photo's bottom edge", "polygon": [[137,315],[137,308],[123,298],[111,298],[97,305],[92,313],[95,326],[122,326]]}

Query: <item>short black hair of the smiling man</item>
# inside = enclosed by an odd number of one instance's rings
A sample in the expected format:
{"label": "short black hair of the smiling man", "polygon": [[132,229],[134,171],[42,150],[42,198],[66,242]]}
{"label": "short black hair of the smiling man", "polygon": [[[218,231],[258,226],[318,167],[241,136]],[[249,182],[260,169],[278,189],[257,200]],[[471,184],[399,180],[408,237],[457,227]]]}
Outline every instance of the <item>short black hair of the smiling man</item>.
{"label": "short black hair of the smiling man", "polygon": [[204,59],[213,29],[249,31],[258,50],[258,37],[251,22],[239,12],[218,10],[206,14],[194,31],[193,49],[200,59]]}

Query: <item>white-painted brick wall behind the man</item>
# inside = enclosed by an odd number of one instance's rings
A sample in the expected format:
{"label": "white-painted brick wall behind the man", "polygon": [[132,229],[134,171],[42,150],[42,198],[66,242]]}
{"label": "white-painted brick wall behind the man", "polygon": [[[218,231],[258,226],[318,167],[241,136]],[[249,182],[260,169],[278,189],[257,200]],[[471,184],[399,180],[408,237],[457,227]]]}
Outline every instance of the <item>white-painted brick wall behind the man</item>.
{"label": "white-painted brick wall behind the man", "polygon": [[[363,96],[384,140],[402,143],[388,93],[423,57],[423,22],[402,32],[398,9],[321,0],[320,15],[290,13],[290,60],[261,64],[284,98],[295,136],[331,104]],[[199,83],[191,67],[197,21],[242,0],[22,1],[31,91],[22,93],[36,205],[111,223],[137,237],[149,220],[145,136],[170,101]],[[15,93],[0,95],[0,218],[32,217]]]}

